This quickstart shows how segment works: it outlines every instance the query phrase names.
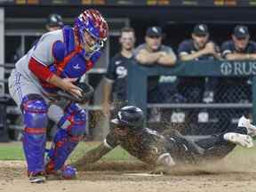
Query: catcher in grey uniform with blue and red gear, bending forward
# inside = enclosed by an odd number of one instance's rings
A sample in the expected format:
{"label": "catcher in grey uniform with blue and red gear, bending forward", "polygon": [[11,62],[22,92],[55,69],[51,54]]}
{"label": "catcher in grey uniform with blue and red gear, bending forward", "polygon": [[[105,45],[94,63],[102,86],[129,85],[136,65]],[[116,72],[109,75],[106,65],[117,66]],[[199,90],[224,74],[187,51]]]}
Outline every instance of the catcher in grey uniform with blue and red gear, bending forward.
{"label": "catcher in grey uniform with blue and red gear, bending forward", "polygon": [[[45,33],[15,64],[9,91],[23,114],[23,148],[30,182],[44,182],[50,174],[75,175],[76,171],[64,164],[84,136],[86,116],[77,101],[85,102],[86,98],[83,85],[74,83],[100,58],[107,36],[108,23],[100,12],[85,10],[76,18],[74,28]],[[70,95],[76,100],[57,105],[59,97]],[[58,124],[59,131],[44,162],[48,118]]]}

